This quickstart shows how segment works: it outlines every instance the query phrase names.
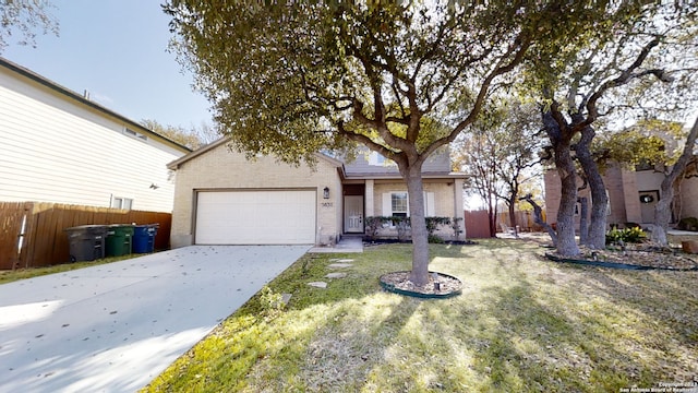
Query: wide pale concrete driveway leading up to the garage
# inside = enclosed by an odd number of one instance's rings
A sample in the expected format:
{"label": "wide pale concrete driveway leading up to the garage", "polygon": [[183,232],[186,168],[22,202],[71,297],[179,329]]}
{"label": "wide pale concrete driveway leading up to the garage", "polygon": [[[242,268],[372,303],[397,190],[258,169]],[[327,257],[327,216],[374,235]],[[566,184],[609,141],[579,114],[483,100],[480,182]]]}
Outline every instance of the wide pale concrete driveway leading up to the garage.
{"label": "wide pale concrete driveway leading up to the garage", "polygon": [[134,392],[310,246],[192,246],[0,285],[0,392]]}

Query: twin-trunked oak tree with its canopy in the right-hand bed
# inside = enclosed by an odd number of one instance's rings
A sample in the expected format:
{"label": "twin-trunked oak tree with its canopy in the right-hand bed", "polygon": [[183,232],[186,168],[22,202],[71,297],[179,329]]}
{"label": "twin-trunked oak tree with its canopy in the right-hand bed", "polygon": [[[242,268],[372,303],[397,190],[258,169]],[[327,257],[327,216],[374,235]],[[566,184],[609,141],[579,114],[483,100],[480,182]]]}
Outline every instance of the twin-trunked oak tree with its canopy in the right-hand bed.
{"label": "twin-trunked oak tree with its canopy in the right-hand bed", "polygon": [[[670,53],[689,49],[695,57],[695,8],[666,2],[627,2],[624,12],[609,15],[599,28],[576,37],[578,44],[555,52],[541,52],[530,63],[538,78],[542,119],[562,181],[557,214],[557,251],[579,253],[575,242],[574,210],[577,203],[577,160],[592,199],[586,245],[605,247],[607,194],[591,144],[598,120],[623,115],[640,103],[665,105],[664,97],[650,95],[653,83],[672,82],[690,70],[676,68]],[[683,47],[683,49],[681,49]],[[543,48],[545,49],[545,48]],[[554,76],[554,78],[551,78]],[[622,116],[616,117],[616,119]]]}

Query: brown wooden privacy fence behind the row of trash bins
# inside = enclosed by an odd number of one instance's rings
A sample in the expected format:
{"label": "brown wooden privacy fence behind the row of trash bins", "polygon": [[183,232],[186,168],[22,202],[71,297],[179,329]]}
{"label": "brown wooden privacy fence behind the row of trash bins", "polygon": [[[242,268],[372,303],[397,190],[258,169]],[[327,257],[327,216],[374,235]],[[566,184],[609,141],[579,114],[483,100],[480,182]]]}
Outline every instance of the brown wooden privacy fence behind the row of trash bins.
{"label": "brown wooden privacy fence behind the row of trash bins", "polygon": [[155,249],[169,248],[170,213],[44,202],[0,202],[0,270],[68,262],[65,228],[79,225],[159,224]]}

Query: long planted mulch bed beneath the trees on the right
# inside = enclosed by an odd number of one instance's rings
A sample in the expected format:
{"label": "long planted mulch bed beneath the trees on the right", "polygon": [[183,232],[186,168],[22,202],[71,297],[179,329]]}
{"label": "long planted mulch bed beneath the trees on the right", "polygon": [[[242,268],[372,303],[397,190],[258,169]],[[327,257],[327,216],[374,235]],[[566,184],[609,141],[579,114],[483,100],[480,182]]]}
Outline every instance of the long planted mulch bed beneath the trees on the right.
{"label": "long planted mulch bed beneath the trees on the right", "polygon": [[625,250],[610,248],[592,250],[580,247],[578,257],[565,257],[555,251],[545,253],[545,258],[555,262],[577,263],[601,267],[627,270],[670,270],[698,271],[698,257],[681,250],[664,250],[651,246],[628,246]]}

